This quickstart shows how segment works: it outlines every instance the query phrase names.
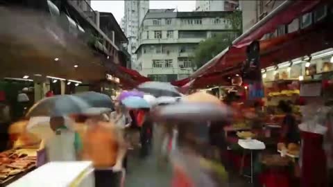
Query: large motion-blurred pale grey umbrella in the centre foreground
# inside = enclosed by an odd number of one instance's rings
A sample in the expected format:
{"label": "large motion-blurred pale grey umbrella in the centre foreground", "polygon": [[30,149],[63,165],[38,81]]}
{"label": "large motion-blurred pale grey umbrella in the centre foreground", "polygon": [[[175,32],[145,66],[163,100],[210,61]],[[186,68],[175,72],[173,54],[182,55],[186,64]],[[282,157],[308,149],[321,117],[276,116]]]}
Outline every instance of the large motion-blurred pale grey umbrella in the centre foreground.
{"label": "large motion-blurred pale grey umbrella in the centre foreground", "polygon": [[232,114],[229,107],[214,103],[176,103],[153,112],[157,121],[221,121]]}

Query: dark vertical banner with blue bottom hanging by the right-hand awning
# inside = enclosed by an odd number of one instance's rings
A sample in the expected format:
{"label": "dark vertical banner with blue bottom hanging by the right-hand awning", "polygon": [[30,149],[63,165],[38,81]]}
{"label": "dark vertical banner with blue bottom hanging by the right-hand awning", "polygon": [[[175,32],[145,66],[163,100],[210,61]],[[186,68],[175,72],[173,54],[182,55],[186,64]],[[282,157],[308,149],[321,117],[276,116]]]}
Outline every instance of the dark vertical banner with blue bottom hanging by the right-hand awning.
{"label": "dark vertical banner with blue bottom hanging by the right-hand awning", "polygon": [[248,98],[263,98],[264,85],[262,84],[262,71],[259,60],[260,46],[258,41],[253,41],[248,48],[246,48],[246,56],[242,77],[244,82],[248,84]]}

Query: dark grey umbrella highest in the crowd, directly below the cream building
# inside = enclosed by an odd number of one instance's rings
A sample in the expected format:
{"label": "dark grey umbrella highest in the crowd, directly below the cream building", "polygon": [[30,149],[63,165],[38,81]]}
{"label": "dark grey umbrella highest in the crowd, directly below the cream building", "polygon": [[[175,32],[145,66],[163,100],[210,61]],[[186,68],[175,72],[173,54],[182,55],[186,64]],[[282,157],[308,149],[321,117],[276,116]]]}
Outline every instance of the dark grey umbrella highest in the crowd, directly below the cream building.
{"label": "dark grey umbrella highest in the crowd, directly below the cream building", "polygon": [[139,84],[137,87],[139,91],[144,91],[148,94],[151,94],[155,97],[160,96],[171,96],[171,97],[178,97],[180,96],[180,93],[178,90],[173,87],[170,83],[167,82],[144,82],[142,84]]}

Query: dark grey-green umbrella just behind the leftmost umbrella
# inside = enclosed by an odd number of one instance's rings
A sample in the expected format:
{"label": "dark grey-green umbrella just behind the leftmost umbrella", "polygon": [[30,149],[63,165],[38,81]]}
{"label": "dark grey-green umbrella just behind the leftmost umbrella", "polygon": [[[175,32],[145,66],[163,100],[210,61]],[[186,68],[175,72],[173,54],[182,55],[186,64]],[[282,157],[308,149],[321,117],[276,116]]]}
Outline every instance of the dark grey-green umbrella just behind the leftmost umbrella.
{"label": "dark grey-green umbrella just behind the leftmost umbrella", "polygon": [[85,102],[87,102],[91,107],[94,108],[109,108],[114,109],[112,99],[105,94],[101,94],[95,91],[85,91],[80,94],[74,94]]}

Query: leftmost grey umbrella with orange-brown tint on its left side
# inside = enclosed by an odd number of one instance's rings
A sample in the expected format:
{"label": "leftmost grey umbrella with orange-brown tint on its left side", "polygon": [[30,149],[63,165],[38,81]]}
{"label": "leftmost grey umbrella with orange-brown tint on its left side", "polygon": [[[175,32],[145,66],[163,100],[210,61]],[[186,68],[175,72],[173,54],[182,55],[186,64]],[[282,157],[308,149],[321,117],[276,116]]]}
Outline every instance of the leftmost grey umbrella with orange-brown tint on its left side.
{"label": "leftmost grey umbrella with orange-brown tint on its left side", "polygon": [[53,96],[44,98],[35,103],[29,109],[26,117],[33,116],[68,116],[70,114],[81,114],[90,108],[84,100],[69,95]]}

